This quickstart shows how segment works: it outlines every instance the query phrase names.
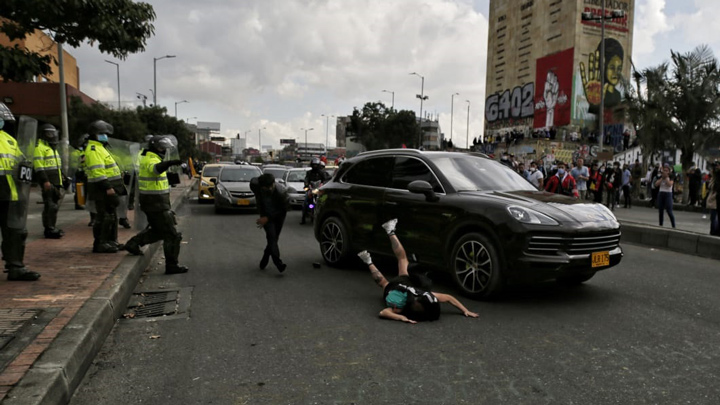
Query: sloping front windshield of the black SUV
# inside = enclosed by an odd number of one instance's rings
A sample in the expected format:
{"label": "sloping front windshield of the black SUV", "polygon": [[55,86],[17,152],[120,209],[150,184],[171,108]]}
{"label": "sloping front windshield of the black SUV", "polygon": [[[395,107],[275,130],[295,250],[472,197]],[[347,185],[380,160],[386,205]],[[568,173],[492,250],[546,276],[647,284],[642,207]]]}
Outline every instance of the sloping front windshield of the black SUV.
{"label": "sloping front windshield of the black SUV", "polygon": [[537,191],[509,167],[479,156],[434,157],[432,162],[458,191]]}

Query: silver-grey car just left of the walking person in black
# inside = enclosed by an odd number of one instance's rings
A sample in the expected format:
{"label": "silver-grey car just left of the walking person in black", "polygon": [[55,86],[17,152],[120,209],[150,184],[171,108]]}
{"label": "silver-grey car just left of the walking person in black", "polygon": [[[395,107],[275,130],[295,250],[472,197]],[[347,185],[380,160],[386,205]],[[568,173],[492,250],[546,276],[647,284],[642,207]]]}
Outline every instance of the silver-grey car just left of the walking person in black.
{"label": "silver-grey car just left of the walking person in black", "polygon": [[255,209],[255,194],[250,190],[250,180],[262,174],[251,165],[223,166],[215,184],[215,212],[231,208]]}

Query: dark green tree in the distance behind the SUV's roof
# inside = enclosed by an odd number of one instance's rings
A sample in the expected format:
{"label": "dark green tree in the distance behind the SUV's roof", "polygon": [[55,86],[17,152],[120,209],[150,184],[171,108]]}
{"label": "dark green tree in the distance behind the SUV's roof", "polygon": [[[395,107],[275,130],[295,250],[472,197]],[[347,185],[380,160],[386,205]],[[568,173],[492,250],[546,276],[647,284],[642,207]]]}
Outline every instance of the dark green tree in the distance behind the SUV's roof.
{"label": "dark green tree in the distance behind the SUV's roof", "polygon": [[415,145],[419,128],[412,111],[389,109],[383,103],[366,103],[361,111],[353,110],[346,130],[353,142],[367,150],[376,150]]}

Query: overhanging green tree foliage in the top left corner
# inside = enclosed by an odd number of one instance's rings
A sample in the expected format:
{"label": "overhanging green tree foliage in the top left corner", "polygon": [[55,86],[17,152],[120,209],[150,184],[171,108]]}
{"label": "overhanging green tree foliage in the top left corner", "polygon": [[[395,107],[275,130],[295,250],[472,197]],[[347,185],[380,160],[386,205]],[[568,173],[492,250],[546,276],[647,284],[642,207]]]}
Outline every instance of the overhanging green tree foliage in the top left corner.
{"label": "overhanging green tree foliage in the top left corner", "polygon": [[[151,5],[131,0],[3,0],[0,6],[0,33],[10,40],[41,30],[72,47],[97,43],[101,52],[118,59],[145,50],[154,20]],[[5,81],[27,82],[51,71],[49,56],[18,46],[0,47],[0,60]]]}

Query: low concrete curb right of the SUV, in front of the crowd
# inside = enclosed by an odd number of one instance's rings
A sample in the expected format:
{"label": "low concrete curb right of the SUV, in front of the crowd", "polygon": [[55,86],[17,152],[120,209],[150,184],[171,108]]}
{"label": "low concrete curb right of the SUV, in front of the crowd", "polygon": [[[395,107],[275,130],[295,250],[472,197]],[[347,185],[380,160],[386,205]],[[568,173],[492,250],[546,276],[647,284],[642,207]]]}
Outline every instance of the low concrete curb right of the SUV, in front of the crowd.
{"label": "low concrete curb right of the SUV, in front of the crowd", "polygon": [[671,250],[688,255],[720,259],[720,238],[677,229],[663,229],[637,222],[621,222],[622,243]]}

